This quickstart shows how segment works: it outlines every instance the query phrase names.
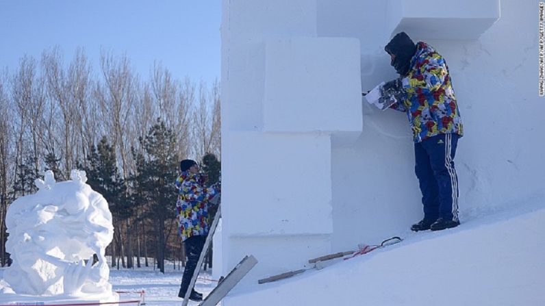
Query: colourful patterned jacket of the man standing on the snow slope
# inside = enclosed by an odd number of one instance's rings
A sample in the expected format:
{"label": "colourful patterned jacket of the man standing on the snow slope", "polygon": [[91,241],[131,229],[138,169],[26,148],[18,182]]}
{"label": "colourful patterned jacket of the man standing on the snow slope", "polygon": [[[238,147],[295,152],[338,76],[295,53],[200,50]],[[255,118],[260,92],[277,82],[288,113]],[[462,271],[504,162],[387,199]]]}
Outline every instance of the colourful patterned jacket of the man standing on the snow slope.
{"label": "colourful patterned jacket of the man standing on the snow slope", "polygon": [[408,75],[392,87],[388,94],[396,103],[390,107],[407,113],[414,142],[442,133],[464,135],[448,66],[428,44],[416,44]]}

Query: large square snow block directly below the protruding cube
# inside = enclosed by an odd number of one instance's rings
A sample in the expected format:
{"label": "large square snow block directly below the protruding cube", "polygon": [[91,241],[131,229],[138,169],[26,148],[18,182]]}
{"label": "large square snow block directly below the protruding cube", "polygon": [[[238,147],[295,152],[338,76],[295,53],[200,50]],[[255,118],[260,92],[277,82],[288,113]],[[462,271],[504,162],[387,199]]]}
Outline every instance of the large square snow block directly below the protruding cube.
{"label": "large square snow block directly below the protruding cube", "polygon": [[222,142],[225,233],[333,231],[329,135],[240,131],[224,133]]}

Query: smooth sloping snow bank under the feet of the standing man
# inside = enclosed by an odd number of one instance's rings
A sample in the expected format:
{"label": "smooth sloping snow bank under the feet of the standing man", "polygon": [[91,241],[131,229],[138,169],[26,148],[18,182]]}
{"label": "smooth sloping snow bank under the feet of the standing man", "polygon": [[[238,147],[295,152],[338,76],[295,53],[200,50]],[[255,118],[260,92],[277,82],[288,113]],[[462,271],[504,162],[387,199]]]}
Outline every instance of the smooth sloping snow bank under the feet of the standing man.
{"label": "smooth sloping snow bank under the feet of the standing man", "polygon": [[235,288],[223,305],[545,305],[544,224],[537,199],[455,229],[407,231],[322,270]]}

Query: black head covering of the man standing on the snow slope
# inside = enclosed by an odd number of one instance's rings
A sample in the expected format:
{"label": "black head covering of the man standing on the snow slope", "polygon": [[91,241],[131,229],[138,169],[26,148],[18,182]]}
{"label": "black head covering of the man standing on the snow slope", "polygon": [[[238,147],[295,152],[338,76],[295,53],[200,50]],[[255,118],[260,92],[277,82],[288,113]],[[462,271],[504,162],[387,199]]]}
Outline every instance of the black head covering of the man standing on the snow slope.
{"label": "black head covering of the man standing on the snow slope", "polygon": [[407,75],[409,68],[411,68],[411,58],[416,53],[416,44],[411,38],[405,32],[398,33],[386,44],[384,50],[388,54],[395,55],[390,65],[396,69],[396,72],[400,75]]}

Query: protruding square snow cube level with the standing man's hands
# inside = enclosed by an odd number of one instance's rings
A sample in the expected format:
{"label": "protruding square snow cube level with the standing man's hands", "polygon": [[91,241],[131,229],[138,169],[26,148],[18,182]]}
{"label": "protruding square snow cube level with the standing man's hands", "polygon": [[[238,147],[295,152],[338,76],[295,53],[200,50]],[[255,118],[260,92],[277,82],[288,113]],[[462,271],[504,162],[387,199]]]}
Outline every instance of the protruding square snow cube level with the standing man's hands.
{"label": "protruding square snow cube level with the standing man's hands", "polygon": [[359,40],[266,42],[264,131],[362,131]]}

